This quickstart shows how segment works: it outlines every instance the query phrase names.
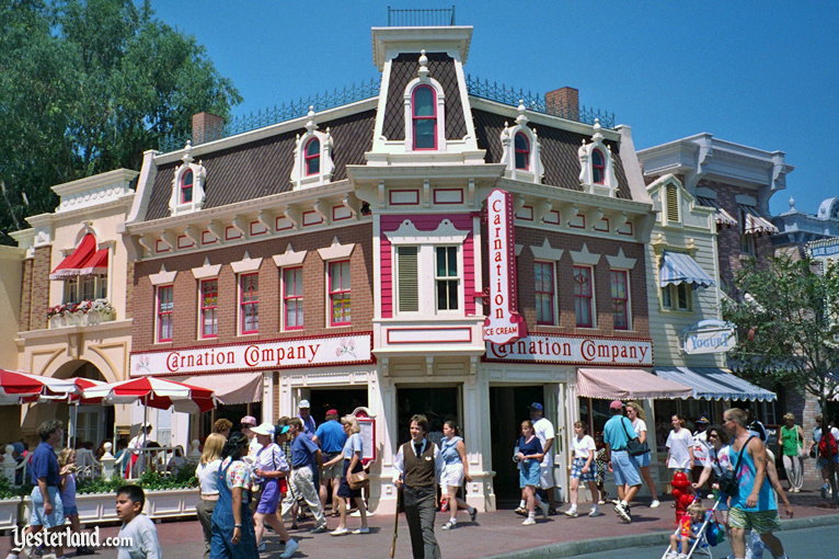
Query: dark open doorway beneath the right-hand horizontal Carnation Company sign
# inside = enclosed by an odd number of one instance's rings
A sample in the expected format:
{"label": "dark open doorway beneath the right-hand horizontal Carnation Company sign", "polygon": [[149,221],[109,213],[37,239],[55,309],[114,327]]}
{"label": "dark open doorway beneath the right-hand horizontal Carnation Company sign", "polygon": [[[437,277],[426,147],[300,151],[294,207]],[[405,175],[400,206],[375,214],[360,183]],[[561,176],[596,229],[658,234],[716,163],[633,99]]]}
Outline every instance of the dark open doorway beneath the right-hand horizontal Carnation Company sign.
{"label": "dark open doorway beneath the right-hand horizontal Carnation Company sign", "polygon": [[529,408],[532,402],[544,403],[542,385],[490,387],[492,468],[495,470],[493,487],[498,509],[514,509],[521,498],[513,448],[521,435],[521,422],[530,419]]}

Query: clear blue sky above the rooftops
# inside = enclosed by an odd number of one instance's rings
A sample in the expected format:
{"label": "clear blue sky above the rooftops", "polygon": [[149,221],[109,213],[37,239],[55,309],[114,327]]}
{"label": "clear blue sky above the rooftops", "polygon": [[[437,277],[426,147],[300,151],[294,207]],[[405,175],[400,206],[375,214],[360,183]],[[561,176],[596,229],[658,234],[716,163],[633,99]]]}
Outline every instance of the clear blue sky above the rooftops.
{"label": "clear blue sky above the rooftops", "polygon": [[[393,8],[448,8],[412,0]],[[388,2],[153,0],[157,15],[203,44],[244,102],[266,109],[377,77],[370,27]],[[535,1],[456,3],[473,25],[467,72],[544,92],[579,89],[616,113],[639,149],[701,132],[781,150],[795,170],[773,214],[814,214],[839,196],[839,3]]]}

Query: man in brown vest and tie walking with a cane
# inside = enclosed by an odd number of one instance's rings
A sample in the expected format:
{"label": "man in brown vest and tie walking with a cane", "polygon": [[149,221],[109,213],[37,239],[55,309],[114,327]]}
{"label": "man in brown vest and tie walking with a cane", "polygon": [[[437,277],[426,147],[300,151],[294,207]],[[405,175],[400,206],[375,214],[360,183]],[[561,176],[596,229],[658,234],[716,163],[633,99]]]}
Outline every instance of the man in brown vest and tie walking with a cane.
{"label": "man in brown vest and tie walking with a cane", "polygon": [[443,461],[437,445],[425,437],[427,432],[426,417],[412,417],[411,441],[399,447],[393,459],[393,483],[403,492],[414,559],[443,557],[434,535],[437,483]]}

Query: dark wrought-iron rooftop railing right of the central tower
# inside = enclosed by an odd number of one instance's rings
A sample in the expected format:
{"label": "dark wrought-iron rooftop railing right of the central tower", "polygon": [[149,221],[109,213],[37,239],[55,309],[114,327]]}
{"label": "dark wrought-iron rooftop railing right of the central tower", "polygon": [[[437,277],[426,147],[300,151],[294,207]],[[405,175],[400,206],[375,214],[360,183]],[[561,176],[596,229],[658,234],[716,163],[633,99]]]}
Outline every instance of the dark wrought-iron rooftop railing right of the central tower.
{"label": "dark wrought-iron rooftop railing right of the central tower", "polygon": [[614,128],[614,113],[591,109],[579,105],[568,106],[562,104],[548,103],[544,95],[508,87],[497,81],[481,80],[481,78],[467,75],[467,91],[470,95],[481,99],[487,99],[505,105],[518,106],[519,101],[525,103],[525,107],[537,113],[559,116],[568,121],[576,121],[584,124],[595,124],[595,118],[600,121],[604,128]]}

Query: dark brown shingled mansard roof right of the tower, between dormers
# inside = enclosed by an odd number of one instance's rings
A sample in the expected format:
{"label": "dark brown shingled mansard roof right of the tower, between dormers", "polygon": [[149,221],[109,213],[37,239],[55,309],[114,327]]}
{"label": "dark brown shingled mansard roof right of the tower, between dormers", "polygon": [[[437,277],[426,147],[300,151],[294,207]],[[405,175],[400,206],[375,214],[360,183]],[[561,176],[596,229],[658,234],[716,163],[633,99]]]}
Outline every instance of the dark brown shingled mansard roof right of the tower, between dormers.
{"label": "dark brown shingled mansard roof right of the tower, between dormers", "polygon": [[[514,118],[487,111],[472,110],[472,116],[475,124],[475,135],[478,136],[478,147],[486,150],[486,162],[501,162],[504,149],[501,145],[501,133],[504,129],[504,123],[515,125]],[[579,186],[579,149],[583,138],[591,141],[590,136],[584,136],[562,128],[553,128],[544,124],[533,125],[539,134],[539,142],[542,145],[542,166],[544,167],[544,184],[560,186],[572,191],[583,190]],[[613,141],[606,141],[612,149],[614,158],[614,175],[618,179],[618,197],[632,199],[627,174],[623,171],[623,164],[618,155],[618,145]]]}

